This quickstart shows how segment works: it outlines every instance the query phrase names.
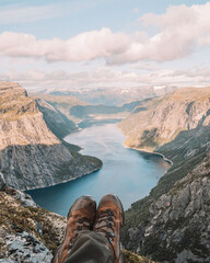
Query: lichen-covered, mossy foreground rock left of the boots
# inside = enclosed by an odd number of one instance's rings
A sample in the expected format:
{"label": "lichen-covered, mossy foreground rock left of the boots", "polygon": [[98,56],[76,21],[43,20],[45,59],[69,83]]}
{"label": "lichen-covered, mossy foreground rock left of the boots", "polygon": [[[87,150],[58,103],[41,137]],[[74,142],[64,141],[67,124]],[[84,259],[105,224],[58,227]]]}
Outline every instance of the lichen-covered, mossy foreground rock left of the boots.
{"label": "lichen-covered, mossy foreground rock left of the boots", "polygon": [[13,188],[0,192],[0,262],[50,262],[67,222]]}

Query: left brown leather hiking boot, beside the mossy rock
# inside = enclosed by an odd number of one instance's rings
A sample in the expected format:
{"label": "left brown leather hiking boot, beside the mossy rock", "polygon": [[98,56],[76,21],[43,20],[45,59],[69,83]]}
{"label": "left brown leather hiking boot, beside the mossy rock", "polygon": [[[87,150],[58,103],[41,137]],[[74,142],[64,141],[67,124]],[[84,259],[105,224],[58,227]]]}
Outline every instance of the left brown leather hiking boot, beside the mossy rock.
{"label": "left brown leather hiking boot, beside the mossy rock", "polygon": [[92,230],[96,214],[96,202],[91,196],[78,198],[68,214],[66,236],[52,263],[62,263],[81,230]]}

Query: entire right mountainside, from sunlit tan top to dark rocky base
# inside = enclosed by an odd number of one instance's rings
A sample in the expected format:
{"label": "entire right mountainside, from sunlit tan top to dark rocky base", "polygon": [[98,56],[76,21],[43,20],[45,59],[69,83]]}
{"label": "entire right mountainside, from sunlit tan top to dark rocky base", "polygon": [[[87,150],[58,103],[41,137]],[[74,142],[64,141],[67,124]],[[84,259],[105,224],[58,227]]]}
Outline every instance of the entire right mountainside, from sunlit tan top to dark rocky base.
{"label": "entire right mountainside, from sunlit tan top to dark rocky base", "polygon": [[119,124],[125,144],[173,165],[126,213],[124,244],[156,261],[209,262],[210,89],[177,90],[141,107]]}

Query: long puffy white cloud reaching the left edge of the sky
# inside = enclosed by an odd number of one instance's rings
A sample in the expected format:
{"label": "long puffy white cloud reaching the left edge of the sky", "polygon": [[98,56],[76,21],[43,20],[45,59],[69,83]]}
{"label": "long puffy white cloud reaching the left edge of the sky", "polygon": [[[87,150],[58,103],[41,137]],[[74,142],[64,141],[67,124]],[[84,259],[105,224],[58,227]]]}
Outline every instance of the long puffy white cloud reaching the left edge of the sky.
{"label": "long puffy white cloud reaching the left edge of the sky", "polygon": [[82,61],[120,53],[129,44],[122,33],[109,28],[85,32],[75,37],[38,41],[30,34],[4,32],[0,34],[0,55],[44,58],[47,61]]}

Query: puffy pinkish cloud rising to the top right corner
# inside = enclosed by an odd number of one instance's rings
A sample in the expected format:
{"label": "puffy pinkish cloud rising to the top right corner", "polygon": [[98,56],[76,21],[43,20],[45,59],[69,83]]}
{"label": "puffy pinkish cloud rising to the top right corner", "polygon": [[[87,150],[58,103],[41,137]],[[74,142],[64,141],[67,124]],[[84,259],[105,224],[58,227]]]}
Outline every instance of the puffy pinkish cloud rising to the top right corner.
{"label": "puffy pinkish cloud rising to the top right corner", "polygon": [[165,14],[149,13],[139,19],[159,32],[143,43],[133,42],[122,54],[110,57],[112,64],[139,60],[167,61],[186,57],[201,45],[210,45],[210,2],[202,5],[170,7]]}

